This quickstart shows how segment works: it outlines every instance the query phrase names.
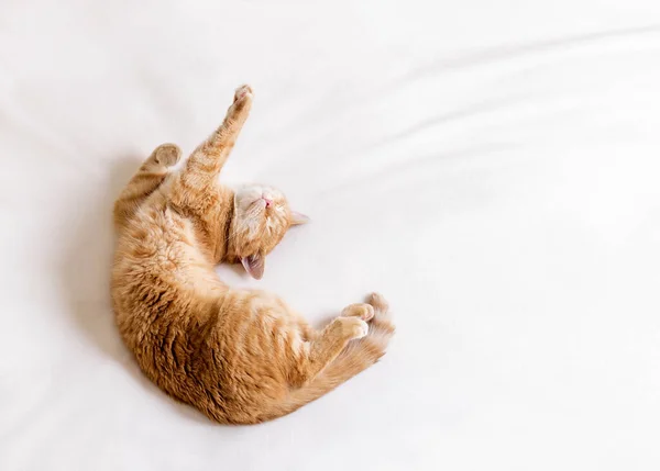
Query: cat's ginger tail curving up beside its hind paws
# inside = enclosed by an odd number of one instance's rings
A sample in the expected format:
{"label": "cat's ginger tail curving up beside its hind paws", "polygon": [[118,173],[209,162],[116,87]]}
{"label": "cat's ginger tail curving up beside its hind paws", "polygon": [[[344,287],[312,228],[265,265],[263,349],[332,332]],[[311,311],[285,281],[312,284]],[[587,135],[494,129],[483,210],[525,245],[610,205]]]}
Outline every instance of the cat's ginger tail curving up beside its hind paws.
{"label": "cat's ginger tail curving up beside its hind paws", "polygon": [[341,354],[326,367],[309,384],[294,390],[276,407],[271,418],[289,414],[323,394],[332,391],[355,374],[366,370],[385,355],[395,327],[389,315],[387,302],[380,294],[370,296],[374,306],[374,317],[370,321],[366,337],[351,340]]}

